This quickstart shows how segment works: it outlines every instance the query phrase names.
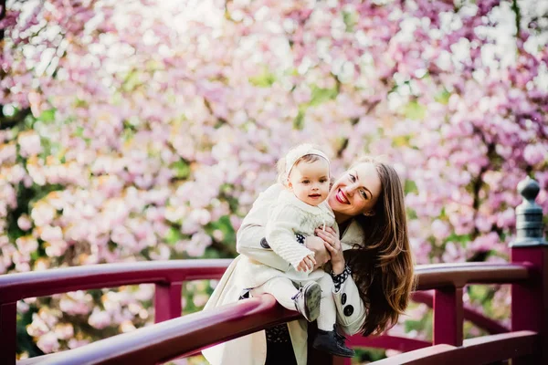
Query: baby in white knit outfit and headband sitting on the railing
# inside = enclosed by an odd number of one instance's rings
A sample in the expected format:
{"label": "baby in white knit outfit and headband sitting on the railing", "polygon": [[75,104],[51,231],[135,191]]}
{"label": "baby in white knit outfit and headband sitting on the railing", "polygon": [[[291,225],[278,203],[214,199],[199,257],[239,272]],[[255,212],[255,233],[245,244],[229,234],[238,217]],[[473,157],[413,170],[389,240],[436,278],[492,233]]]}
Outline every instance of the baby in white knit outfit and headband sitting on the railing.
{"label": "baby in white knit outfit and headband sitting on the railing", "polygon": [[[247,287],[251,296],[269,293],[283,307],[298,310],[308,321],[318,320],[318,335],[313,347],[333,355],[353,357],[353,349],[335,332],[336,307],[332,297],[332,277],[316,264],[314,253],[304,245],[306,236],[317,227],[333,227],[335,217],[325,202],[330,189],[330,165],[327,156],[310,144],[292,149],[279,162],[279,194],[269,215],[266,239],[269,246],[290,264],[279,271],[246,257]],[[299,288],[297,288],[299,287]]]}

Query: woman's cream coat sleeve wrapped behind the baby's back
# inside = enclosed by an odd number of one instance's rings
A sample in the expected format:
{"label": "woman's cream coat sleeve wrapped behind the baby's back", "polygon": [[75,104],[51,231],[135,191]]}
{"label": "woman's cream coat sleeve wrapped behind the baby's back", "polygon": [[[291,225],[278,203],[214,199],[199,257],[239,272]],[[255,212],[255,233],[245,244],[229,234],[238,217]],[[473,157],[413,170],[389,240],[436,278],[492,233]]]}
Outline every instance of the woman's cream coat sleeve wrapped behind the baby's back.
{"label": "woman's cream coat sleeve wrapped behind the baby's back", "polygon": [[276,203],[282,189],[281,185],[275,184],[258,196],[237,230],[236,250],[238,254],[247,255],[261,264],[286,272],[290,269],[290,264],[272,251],[265,238],[269,208]]}

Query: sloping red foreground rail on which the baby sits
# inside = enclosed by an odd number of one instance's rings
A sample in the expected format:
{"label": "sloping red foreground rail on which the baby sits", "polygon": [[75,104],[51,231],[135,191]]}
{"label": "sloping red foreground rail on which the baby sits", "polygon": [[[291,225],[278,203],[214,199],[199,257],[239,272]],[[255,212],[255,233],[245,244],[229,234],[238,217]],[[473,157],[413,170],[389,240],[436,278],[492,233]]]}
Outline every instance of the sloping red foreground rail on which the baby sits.
{"label": "sloping red foreground rail on which the baby sits", "polygon": [[163,363],[299,317],[263,295],[100,339],[33,364]]}

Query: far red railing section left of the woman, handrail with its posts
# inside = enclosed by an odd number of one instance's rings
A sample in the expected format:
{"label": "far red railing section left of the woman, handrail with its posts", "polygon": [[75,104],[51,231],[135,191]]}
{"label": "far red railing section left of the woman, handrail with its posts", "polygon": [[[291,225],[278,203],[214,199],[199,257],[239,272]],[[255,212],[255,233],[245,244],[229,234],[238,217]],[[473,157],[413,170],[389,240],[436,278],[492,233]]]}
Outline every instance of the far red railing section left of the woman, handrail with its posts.
{"label": "far red railing section left of the woman, handrail with its posts", "polygon": [[0,364],[16,362],[16,301],[74,290],[155,284],[155,321],[181,316],[182,283],[218,279],[231,260],[173,260],[78,266],[0,276]]}

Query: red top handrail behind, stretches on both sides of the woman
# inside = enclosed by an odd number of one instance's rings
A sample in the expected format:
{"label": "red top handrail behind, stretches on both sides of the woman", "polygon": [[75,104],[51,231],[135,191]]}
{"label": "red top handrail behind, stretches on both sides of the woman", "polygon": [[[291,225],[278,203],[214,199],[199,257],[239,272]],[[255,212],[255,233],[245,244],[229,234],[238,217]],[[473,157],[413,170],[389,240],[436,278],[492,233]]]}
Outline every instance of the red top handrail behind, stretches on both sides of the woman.
{"label": "red top handrail behind, stretches on both sides of the woman", "polygon": [[[230,259],[142,261],[8,274],[0,276],[0,303],[73,290],[219,278],[230,262]],[[415,272],[418,290],[466,284],[512,284],[530,277],[529,266],[505,263],[418,265]]]}

